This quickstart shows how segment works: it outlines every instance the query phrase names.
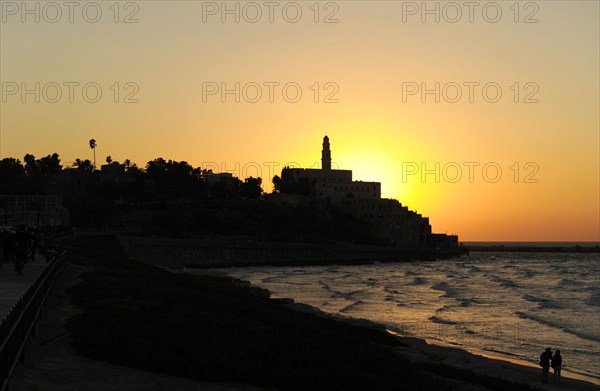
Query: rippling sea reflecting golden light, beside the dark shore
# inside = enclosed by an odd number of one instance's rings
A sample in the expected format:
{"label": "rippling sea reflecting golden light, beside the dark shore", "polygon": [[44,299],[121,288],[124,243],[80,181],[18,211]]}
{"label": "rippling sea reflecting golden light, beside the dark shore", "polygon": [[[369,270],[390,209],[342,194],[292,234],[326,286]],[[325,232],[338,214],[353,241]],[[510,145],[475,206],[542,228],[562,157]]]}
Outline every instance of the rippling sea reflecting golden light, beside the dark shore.
{"label": "rippling sea reflecting golden light, beside the dark shore", "polygon": [[437,261],[221,271],[273,297],[475,354],[537,365],[546,347],[560,349],[564,371],[600,381],[599,253],[472,252]]}

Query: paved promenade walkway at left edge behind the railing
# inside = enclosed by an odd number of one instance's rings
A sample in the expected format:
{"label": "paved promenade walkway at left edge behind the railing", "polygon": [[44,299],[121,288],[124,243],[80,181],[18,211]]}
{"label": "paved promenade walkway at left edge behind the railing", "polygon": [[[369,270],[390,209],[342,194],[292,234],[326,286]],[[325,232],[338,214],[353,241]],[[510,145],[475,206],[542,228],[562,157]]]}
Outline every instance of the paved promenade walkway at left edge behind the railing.
{"label": "paved promenade walkway at left edge behind the railing", "polygon": [[3,263],[0,269],[0,319],[10,311],[27,288],[46,268],[46,262],[40,254],[36,254],[34,263],[26,263],[23,274],[18,275],[12,263]]}

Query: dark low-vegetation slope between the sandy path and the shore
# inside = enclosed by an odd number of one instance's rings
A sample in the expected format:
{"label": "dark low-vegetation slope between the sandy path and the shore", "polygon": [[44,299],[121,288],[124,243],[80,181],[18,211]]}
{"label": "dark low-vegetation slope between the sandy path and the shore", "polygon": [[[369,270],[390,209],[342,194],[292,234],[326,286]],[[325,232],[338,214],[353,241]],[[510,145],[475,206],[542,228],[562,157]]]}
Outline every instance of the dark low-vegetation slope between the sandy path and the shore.
{"label": "dark low-vegetation slope between the sandy path and the shore", "polygon": [[[387,333],[302,313],[215,277],[127,260],[116,241],[68,239],[71,262],[94,266],[70,290],[76,349],[115,364],[202,380],[282,389],[453,389],[432,372],[497,389],[526,389],[469,372],[417,368]],[[448,372],[448,373],[444,373]]]}

